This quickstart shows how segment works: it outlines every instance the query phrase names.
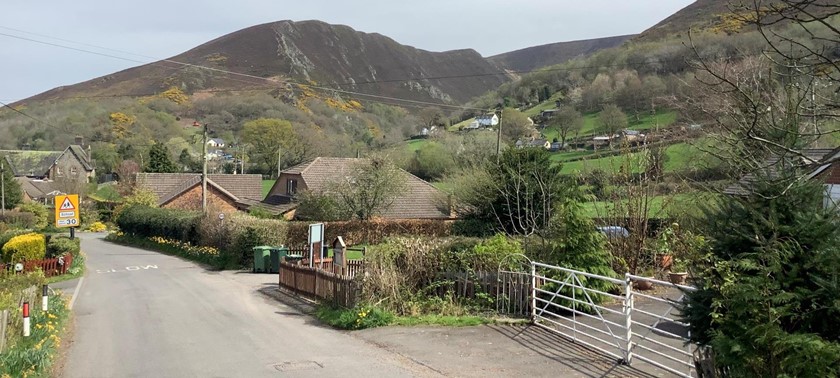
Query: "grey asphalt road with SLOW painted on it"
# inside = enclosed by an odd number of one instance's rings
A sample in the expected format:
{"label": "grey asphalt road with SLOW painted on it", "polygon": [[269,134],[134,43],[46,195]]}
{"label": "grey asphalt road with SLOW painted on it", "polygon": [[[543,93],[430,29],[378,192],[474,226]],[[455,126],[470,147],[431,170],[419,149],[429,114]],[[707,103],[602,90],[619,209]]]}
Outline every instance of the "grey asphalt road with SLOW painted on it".
{"label": "grey asphalt road with SLOW painted on it", "polygon": [[264,298],[247,279],[82,238],[88,270],[64,377],[437,375]]}

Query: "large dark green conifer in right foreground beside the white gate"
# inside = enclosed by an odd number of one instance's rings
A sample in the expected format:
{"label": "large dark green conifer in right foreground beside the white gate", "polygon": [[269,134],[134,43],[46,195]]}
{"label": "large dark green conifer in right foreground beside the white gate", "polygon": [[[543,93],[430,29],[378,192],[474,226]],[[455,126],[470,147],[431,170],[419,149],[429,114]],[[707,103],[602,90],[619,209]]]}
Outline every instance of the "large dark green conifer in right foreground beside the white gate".
{"label": "large dark green conifer in right foreground beside the white gate", "polygon": [[758,177],[751,194],[706,209],[711,250],[692,264],[698,290],[682,312],[731,376],[836,376],[840,219],[803,172],[773,172],[784,179]]}

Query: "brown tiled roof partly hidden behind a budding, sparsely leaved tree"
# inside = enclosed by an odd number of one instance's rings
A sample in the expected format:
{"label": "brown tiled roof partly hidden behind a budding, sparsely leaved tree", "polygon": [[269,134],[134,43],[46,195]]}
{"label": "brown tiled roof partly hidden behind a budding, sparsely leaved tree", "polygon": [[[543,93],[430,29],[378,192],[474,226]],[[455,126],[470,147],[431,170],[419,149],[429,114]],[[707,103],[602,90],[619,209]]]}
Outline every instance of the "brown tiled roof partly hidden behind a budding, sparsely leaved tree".
{"label": "brown tiled roof partly hidden behind a budding, sparsely leaved tree", "polygon": [[[289,168],[283,173],[300,174],[309,190],[323,192],[334,180],[351,174],[354,164],[365,160],[319,157]],[[417,176],[400,171],[405,178],[406,189],[380,216],[393,219],[451,218],[445,193]]]}

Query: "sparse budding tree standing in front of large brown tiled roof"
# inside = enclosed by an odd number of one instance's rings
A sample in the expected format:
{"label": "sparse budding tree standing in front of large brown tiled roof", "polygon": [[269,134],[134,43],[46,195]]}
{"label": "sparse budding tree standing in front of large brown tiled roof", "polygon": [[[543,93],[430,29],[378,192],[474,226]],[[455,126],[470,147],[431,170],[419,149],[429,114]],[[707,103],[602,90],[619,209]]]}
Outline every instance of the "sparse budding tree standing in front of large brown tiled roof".
{"label": "sparse budding tree standing in front of large brown tiled roof", "polygon": [[329,193],[353,217],[370,220],[388,210],[404,192],[405,179],[393,163],[374,156],[355,163],[345,179],[332,184]]}

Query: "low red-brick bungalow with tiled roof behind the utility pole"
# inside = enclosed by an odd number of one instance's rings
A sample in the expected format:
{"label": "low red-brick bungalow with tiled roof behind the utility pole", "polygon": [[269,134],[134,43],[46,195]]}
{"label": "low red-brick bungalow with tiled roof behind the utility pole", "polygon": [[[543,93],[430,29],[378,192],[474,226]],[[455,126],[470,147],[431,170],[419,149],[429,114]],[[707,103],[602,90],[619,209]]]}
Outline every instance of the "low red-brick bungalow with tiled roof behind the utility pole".
{"label": "low red-brick bungalow with tiled roof behind the utility pole", "polygon": [[[154,192],[160,207],[201,209],[200,173],[138,173],[137,185]],[[224,212],[245,210],[260,198],[261,175],[207,175],[207,202]]]}

